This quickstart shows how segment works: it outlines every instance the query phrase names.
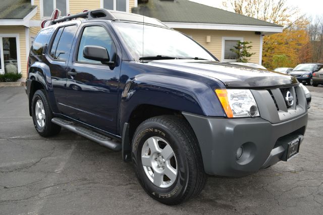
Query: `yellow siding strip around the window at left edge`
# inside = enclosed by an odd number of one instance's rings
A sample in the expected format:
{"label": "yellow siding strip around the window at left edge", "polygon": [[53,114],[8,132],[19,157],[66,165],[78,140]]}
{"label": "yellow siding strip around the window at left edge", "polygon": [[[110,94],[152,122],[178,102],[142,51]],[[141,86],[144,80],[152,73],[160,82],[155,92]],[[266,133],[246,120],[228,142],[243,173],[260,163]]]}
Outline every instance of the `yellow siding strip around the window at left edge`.
{"label": "yellow siding strip around the window at left edge", "polygon": [[[22,73],[23,79],[27,76],[27,57],[26,57],[26,35],[24,26],[0,26],[0,36],[1,34],[19,34],[20,43],[20,70],[18,72]],[[19,55],[19,53],[17,53]]]}

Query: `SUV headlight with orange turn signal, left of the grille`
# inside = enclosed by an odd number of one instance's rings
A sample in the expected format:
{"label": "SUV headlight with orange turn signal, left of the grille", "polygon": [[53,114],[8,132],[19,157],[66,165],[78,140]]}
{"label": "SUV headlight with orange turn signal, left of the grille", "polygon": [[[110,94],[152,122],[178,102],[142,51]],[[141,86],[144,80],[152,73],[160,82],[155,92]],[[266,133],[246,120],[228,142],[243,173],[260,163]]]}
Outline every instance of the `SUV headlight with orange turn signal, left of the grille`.
{"label": "SUV headlight with orange turn signal, left of the grille", "polygon": [[228,118],[259,116],[257,103],[250,90],[216,89],[215,91]]}

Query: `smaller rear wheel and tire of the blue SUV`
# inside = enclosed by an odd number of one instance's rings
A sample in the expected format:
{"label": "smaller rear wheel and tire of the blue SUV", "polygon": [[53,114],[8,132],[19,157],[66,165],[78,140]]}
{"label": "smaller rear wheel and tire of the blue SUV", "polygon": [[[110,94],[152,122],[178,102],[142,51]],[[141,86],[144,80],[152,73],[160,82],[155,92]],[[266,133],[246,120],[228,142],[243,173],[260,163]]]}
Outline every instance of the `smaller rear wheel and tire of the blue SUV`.
{"label": "smaller rear wheel and tire of the blue SUV", "polygon": [[49,137],[58,134],[61,126],[51,122],[52,113],[45,94],[45,90],[37,90],[32,98],[32,120],[40,136]]}

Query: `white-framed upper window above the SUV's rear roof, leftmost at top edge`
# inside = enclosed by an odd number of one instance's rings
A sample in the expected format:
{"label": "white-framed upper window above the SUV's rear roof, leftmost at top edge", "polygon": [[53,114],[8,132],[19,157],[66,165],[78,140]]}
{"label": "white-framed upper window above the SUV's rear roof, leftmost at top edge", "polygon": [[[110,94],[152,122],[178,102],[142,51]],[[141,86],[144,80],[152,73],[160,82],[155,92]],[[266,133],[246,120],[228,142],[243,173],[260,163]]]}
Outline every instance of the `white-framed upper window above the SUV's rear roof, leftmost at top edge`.
{"label": "white-framed upper window above the SUV's rear roof, leftmost at top edge", "polygon": [[61,11],[61,16],[67,14],[68,0],[42,0],[42,16],[50,17],[54,9]]}

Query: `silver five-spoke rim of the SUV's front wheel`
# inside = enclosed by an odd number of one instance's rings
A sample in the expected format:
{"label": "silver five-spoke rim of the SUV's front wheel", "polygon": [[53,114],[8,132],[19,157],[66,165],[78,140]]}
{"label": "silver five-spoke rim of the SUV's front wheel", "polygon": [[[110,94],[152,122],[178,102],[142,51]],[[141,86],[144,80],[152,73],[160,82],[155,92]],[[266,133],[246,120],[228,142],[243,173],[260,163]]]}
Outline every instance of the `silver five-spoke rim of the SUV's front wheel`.
{"label": "silver five-spoke rim of the SUV's front wheel", "polygon": [[177,160],[168,142],[160,137],[148,138],[141,150],[141,163],[149,180],[160,188],[174,184],[177,177]]}

